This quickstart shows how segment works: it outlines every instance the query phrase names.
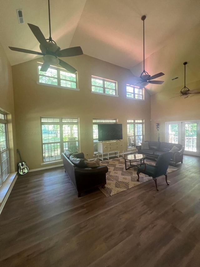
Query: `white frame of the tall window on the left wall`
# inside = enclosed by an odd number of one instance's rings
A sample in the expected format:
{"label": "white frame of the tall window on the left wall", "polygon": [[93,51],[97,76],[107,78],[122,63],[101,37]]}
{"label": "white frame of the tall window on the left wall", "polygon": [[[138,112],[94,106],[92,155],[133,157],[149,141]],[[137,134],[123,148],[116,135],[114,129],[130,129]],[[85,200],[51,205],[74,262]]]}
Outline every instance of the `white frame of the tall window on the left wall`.
{"label": "white frame of the tall window on the left wall", "polygon": [[[0,112],[0,124],[4,124],[6,142],[5,149],[1,150],[0,147],[0,186],[2,186],[3,182],[5,182],[6,178],[10,174],[7,117],[6,114],[2,112]],[[6,171],[7,175],[5,176]]]}

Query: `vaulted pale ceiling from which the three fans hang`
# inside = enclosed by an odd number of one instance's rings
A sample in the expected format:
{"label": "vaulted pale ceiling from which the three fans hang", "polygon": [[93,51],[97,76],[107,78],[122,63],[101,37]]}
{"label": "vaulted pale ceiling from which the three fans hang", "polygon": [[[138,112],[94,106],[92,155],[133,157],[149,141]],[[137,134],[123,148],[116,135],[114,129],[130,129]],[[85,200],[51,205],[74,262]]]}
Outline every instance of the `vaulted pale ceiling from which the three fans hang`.
{"label": "vaulted pale ceiling from which the three fans hang", "polygon": [[[8,46],[40,51],[27,23],[39,26],[49,37],[48,1],[0,3],[0,42],[11,65],[36,58]],[[81,46],[84,54],[131,69],[134,75],[143,70],[141,16],[146,15],[145,70],[150,75],[165,73],[165,83],[148,85],[150,91],[162,90],[176,76],[180,78],[176,85],[183,84],[184,61],[191,72],[188,82],[200,80],[199,0],[50,0],[50,8],[52,38],[61,49]],[[23,24],[18,23],[17,9],[22,9]]]}

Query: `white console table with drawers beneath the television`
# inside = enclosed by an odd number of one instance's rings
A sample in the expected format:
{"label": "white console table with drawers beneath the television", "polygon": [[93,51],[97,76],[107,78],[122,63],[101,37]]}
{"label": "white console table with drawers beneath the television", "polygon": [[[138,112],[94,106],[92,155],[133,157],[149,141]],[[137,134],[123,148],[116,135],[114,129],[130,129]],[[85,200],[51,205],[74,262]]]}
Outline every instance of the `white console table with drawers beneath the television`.
{"label": "white console table with drawers beneath the television", "polygon": [[119,157],[119,151],[123,150],[123,156],[124,156],[124,142],[123,141],[103,141],[98,142],[98,157],[99,153],[102,154],[102,160],[103,160],[103,154],[108,153],[108,160],[109,160],[109,153],[110,152],[118,152]]}

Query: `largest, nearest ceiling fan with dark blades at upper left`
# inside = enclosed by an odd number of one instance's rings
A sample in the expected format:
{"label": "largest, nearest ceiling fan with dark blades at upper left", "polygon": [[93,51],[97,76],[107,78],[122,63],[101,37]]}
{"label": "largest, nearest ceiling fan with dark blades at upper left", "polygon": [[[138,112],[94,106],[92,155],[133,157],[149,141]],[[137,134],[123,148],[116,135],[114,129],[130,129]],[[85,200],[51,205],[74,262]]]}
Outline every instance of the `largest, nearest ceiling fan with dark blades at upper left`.
{"label": "largest, nearest ceiling fan with dark blades at upper left", "polygon": [[36,54],[42,55],[44,63],[40,71],[47,71],[50,65],[57,65],[59,64],[64,69],[68,70],[71,73],[75,73],[77,70],[73,68],[71,65],[66,63],[65,61],[58,59],[58,57],[73,57],[82,55],[83,51],[80,46],[70,47],[63,50],[60,50],[60,47],[56,44],[56,42],[51,37],[51,20],[50,20],[50,4],[48,0],[48,11],[49,11],[49,39],[45,39],[43,33],[41,32],[40,28],[36,25],[27,23],[29,28],[32,30],[32,33],[37,38],[38,42],[40,43],[40,50],[42,52],[36,52],[32,50],[11,47],[9,48],[14,51],[29,53],[29,54]]}

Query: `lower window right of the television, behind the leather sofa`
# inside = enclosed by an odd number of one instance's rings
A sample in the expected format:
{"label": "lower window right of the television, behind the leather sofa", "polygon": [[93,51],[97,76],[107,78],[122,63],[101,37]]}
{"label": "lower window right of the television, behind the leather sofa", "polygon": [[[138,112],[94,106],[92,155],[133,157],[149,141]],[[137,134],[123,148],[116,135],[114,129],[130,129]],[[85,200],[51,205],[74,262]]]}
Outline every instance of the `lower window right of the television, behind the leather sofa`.
{"label": "lower window right of the television, behind the leather sofa", "polygon": [[127,120],[128,148],[143,142],[143,120]]}

